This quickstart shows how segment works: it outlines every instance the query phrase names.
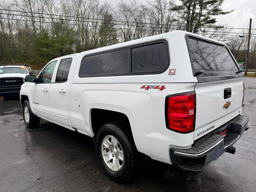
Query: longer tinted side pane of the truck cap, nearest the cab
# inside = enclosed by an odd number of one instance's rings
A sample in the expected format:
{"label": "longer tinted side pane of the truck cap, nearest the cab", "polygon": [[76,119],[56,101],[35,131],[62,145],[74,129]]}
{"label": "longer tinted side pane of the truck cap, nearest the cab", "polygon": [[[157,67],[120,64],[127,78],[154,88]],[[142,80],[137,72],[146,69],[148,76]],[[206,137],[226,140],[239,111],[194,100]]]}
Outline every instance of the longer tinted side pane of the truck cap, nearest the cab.
{"label": "longer tinted side pane of the truck cap, nearest the cab", "polygon": [[84,57],[79,75],[122,74],[128,72],[129,50],[124,49]]}

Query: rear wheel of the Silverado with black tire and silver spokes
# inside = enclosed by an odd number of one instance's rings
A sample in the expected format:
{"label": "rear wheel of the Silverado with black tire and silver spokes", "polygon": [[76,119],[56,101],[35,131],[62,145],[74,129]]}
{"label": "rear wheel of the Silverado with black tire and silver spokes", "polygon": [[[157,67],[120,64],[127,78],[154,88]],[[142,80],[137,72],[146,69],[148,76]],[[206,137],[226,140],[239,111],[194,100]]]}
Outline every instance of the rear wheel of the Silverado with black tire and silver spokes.
{"label": "rear wheel of the Silverado with black tire and silver spokes", "polygon": [[104,172],[119,182],[132,179],[136,150],[119,124],[104,124],[96,137],[97,157]]}

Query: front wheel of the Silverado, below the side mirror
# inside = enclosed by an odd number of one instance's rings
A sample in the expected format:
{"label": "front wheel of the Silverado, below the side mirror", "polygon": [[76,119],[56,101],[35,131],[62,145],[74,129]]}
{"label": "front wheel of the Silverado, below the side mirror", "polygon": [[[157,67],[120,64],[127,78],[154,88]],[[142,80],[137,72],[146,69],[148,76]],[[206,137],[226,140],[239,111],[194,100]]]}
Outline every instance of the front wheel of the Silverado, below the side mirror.
{"label": "front wheel of the Silverado, below the side mirror", "polygon": [[35,128],[40,124],[41,118],[32,112],[30,104],[27,100],[25,100],[22,105],[22,112],[24,123],[26,124],[27,128]]}

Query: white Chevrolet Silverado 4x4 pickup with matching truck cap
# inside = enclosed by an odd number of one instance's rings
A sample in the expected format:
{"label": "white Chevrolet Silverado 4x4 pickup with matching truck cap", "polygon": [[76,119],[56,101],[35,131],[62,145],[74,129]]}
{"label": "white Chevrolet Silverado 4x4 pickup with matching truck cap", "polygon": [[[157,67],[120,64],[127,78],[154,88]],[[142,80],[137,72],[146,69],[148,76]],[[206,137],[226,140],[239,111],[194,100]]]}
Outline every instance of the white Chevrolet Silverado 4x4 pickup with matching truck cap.
{"label": "white Chevrolet Silverado 4x4 pickup with matching truck cap", "polygon": [[20,91],[28,128],[40,118],[94,138],[110,178],[137,154],[200,172],[249,127],[244,75],[222,42],[176,31],[51,60]]}

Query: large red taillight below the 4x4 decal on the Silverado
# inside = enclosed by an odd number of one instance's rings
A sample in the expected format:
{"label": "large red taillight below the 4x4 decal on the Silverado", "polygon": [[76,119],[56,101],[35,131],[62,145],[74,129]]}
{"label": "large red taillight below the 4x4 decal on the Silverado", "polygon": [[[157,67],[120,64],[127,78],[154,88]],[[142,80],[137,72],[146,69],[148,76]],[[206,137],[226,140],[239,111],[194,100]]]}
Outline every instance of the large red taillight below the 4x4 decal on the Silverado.
{"label": "large red taillight below the 4x4 decal on the Silverado", "polygon": [[194,130],[196,117],[195,92],[186,92],[166,97],[166,126],[176,132]]}

